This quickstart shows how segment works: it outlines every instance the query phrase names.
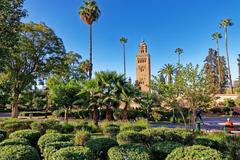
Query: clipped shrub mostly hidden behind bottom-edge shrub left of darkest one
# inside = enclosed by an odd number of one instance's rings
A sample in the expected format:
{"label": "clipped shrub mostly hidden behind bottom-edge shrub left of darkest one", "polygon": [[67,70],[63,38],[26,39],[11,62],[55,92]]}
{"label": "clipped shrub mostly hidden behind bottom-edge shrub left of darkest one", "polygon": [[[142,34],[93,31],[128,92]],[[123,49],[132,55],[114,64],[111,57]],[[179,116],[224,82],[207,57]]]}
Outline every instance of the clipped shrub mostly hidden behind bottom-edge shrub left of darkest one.
{"label": "clipped shrub mostly hidden behind bottom-edge shrub left of darkest one", "polygon": [[47,144],[43,151],[43,156],[45,159],[48,159],[53,153],[58,151],[61,148],[73,146],[72,142],[54,142]]}

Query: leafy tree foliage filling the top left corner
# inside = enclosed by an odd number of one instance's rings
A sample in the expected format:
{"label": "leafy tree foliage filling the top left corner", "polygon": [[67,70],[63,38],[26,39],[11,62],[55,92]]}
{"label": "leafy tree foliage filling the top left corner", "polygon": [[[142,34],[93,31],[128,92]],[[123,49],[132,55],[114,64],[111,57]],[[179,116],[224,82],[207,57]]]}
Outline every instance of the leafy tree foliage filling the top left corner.
{"label": "leafy tree foliage filling the top left corner", "polygon": [[13,52],[18,45],[21,18],[26,16],[23,3],[24,0],[0,1],[0,71],[8,61],[10,52]]}

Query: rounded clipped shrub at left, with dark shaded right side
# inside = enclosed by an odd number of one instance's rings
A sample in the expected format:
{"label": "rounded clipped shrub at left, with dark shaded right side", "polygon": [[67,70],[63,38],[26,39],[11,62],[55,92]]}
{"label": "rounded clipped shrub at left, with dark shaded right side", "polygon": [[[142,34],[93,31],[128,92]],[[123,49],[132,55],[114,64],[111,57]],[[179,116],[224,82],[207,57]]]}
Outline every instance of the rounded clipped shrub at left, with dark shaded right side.
{"label": "rounded clipped shrub at left, with dark shaded right side", "polygon": [[9,135],[9,138],[25,138],[32,146],[35,146],[41,134],[34,130],[20,130],[13,132]]}

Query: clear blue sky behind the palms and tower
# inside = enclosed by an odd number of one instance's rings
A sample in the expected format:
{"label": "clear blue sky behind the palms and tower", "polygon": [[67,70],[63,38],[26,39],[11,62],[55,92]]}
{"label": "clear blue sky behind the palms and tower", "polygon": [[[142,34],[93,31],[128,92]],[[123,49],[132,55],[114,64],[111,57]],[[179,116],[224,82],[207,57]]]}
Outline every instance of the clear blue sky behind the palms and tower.
{"label": "clear blue sky behind the palms and tower", "polygon": [[[219,21],[231,18],[229,51],[233,78],[240,54],[239,0],[98,0],[102,11],[93,27],[94,71],[123,71],[120,37],[128,38],[127,76],[135,80],[135,56],[142,39],[148,44],[152,74],[166,63],[175,64],[177,47],[184,49],[182,63],[203,64],[215,43],[213,32],[222,32]],[[82,0],[26,0],[24,21],[45,22],[62,38],[68,51],[89,57],[89,27],[78,15]],[[220,54],[225,55],[224,40]]]}

